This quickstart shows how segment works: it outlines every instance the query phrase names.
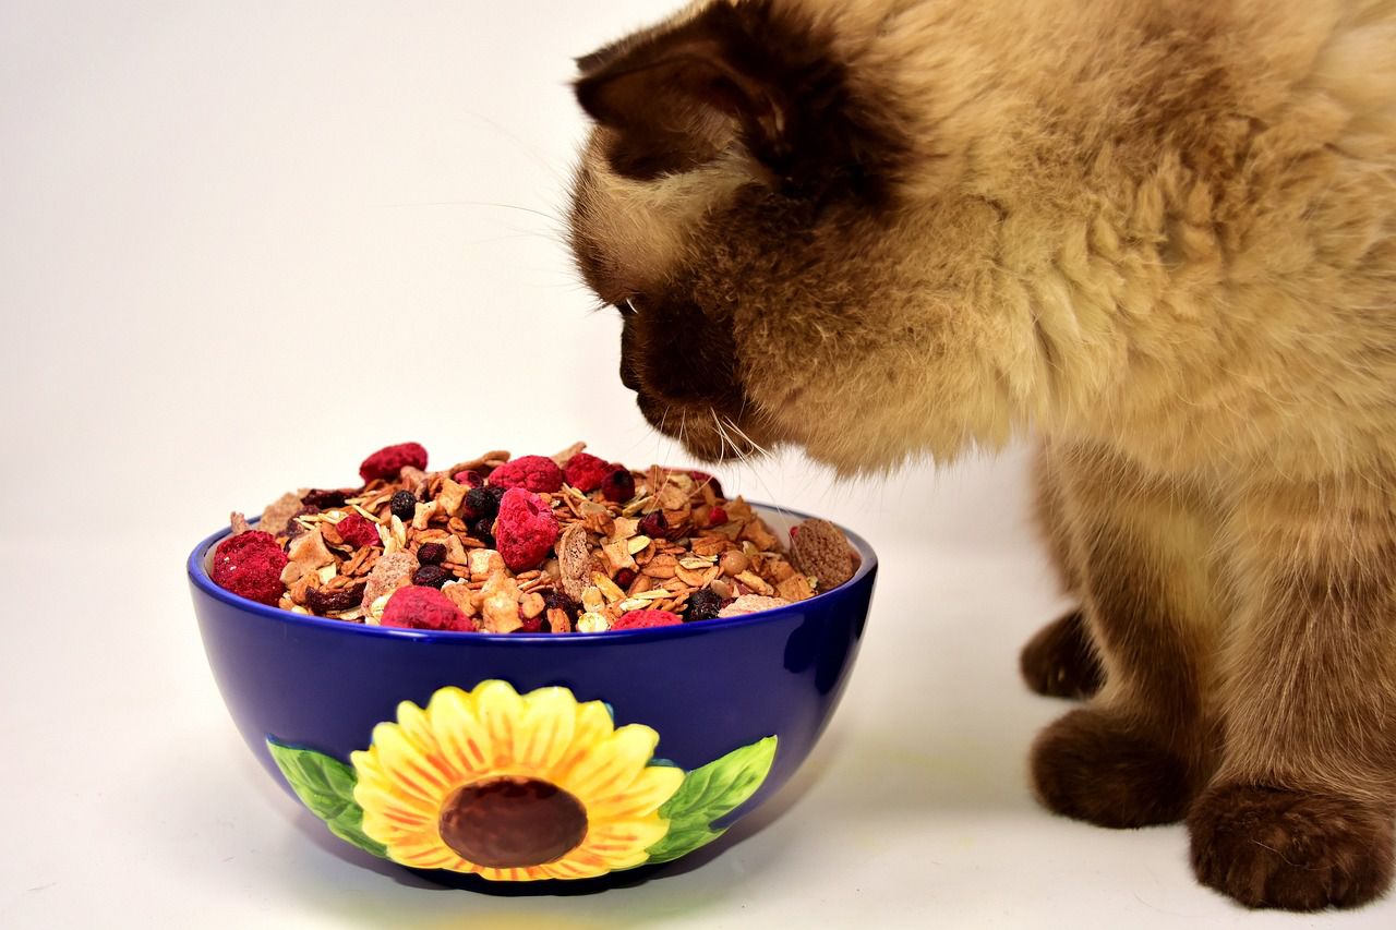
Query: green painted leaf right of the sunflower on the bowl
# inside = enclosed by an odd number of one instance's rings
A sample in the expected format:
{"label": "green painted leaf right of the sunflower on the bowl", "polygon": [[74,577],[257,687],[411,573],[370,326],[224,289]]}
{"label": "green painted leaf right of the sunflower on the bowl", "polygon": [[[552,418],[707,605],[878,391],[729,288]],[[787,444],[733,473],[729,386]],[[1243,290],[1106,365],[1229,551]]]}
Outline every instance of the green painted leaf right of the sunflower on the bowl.
{"label": "green painted leaf right of the sunflower on the bowl", "polygon": [[768,736],[688,772],[659,809],[659,815],[669,820],[669,832],[649,848],[648,864],[671,862],[722,836],[726,828],[713,829],[712,822],[761,788],[775,758],[776,737]]}

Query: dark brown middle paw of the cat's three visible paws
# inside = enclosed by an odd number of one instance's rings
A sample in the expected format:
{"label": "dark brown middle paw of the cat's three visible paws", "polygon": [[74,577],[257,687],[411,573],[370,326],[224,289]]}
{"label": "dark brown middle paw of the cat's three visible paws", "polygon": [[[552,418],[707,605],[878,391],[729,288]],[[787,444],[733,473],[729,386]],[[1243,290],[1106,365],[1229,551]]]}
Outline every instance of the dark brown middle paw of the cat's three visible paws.
{"label": "dark brown middle paw of the cat's three visible paws", "polygon": [[1114,828],[1180,821],[1194,792],[1181,757],[1090,708],[1072,711],[1037,736],[1032,778],[1048,810]]}

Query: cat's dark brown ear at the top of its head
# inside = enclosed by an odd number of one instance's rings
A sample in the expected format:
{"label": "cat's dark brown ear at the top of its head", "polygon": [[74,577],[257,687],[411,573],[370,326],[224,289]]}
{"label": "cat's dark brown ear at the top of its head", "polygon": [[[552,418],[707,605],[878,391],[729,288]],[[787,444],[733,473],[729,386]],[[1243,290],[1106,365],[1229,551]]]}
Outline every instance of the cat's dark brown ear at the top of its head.
{"label": "cat's dark brown ear at the top of its head", "polygon": [[779,75],[730,6],[709,10],[578,59],[577,99],[611,130],[607,156],[618,175],[648,180],[691,170],[734,141],[758,161],[786,149]]}

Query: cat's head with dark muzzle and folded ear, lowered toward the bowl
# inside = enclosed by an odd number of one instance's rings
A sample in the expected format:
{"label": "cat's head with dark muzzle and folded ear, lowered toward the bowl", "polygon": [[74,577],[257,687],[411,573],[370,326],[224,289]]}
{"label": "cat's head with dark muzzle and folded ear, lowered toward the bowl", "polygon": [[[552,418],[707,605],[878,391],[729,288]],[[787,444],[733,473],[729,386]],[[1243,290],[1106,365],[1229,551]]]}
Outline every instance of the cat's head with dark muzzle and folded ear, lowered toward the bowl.
{"label": "cat's head with dark muzzle and folded ear, lowered toward the bowl", "polygon": [[907,452],[896,419],[924,394],[935,235],[906,186],[934,170],[856,31],[805,6],[695,3],[579,59],[571,243],[655,427],[704,458],[796,444],[853,471]]}

